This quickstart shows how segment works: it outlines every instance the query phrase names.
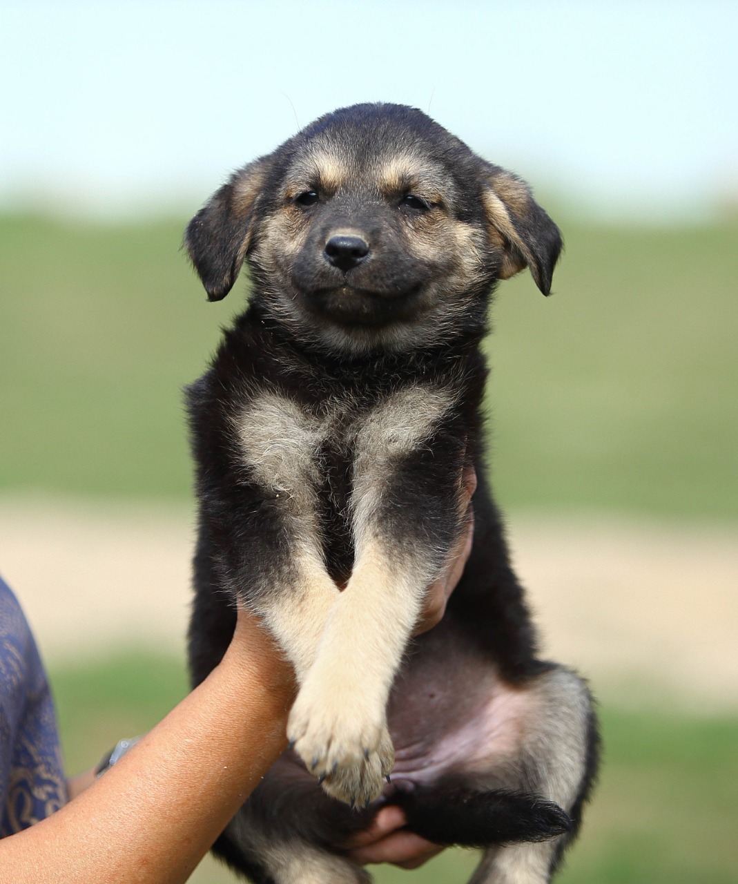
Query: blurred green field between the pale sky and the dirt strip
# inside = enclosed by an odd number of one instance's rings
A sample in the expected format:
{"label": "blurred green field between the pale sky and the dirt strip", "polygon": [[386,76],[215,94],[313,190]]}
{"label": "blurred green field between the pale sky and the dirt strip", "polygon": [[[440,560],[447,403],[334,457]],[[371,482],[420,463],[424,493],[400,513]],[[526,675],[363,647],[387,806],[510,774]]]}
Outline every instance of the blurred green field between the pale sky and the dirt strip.
{"label": "blurred green field between the pale sky and the dirt strip", "polygon": [[[180,389],[245,286],[206,303],[185,223],[0,217],[0,491],[186,498]],[[735,519],[738,223],[559,223],[552,298],[492,314],[500,502]]]}

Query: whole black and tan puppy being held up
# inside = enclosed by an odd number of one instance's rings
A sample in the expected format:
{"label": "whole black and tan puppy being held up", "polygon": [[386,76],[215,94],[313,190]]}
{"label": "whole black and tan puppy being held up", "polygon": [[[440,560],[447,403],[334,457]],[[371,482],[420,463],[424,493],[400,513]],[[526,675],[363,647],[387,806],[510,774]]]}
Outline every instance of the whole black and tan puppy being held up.
{"label": "whole black and tan puppy being held up", "polygon": [[[244,261],[253,281],[189,391],[194,682],[238,604],[300,684],[291,749],[217,850],[258,882],[364,881],[342,845],[390,802],[432,841],[486,848],[476,882],[550,880],[595,723],[580,679],[536,658],[483,478],[479,345],[499,279],[527,266],[549,293],[559,230],[420,110],[360,104],[236,172],[186,246],[210,300]],[[468,566],[444,621],[411,642],[471,468]]]}

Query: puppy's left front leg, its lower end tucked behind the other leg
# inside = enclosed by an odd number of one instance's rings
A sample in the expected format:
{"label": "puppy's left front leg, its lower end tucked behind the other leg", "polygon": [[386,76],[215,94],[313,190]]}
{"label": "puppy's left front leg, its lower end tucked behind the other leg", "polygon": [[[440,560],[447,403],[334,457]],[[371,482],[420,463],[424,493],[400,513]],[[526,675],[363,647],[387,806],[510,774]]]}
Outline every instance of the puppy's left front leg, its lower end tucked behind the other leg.
{"label": "puppy's left front leg, its lower end tucked behind the other leg", "polygon": [[[243,596],[262,615],[305,680],[316,656],[328,612],[339,596],[320,541],[316,451],[328,432],[323,419],[293,400],[264,392],[232,418],[240,439],[240,487],[247,498],[229,514],[232,561],[242,562]],[[231,494],[234,492],[231,491]],[[248,528],[234,529],[234,511],[248,514]]]}

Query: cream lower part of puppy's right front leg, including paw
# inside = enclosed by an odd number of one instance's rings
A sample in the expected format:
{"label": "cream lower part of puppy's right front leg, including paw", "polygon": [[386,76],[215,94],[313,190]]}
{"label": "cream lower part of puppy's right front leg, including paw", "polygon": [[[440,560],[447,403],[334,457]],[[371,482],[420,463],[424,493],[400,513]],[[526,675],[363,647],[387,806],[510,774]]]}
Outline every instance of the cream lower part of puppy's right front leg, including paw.
{"label": "cream lower part of puppy's right front leg, including paw", "polygon": [[290,715],[287,733],[308,769],[352,804],[377,798],[392,771],[387,697],[430,583],[414,565],[380,538],[365,539]]}

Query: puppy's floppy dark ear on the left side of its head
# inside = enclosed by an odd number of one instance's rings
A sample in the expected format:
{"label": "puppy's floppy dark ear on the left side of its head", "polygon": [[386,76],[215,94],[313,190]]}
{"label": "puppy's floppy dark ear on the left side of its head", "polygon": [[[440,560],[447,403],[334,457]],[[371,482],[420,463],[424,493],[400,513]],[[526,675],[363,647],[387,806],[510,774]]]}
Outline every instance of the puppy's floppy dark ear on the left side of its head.
{"label": "puppy's floppy dark ear on the left side of its head", "polygon": [[239,275],[270,159],[262,156],[234,172],[187,225],[185,245],[209,301],[224,298]]}

